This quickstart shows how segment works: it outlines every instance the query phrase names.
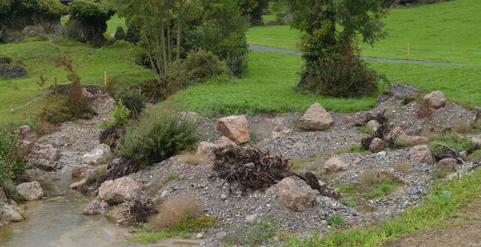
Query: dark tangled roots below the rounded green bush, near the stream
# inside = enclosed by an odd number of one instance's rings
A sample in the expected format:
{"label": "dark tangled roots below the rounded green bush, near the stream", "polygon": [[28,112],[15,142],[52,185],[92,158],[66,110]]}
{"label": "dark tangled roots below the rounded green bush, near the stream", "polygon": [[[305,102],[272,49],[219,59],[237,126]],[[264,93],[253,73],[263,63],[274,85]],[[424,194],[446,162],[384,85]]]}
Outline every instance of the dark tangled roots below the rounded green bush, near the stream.
{"label": "dark tangled roots below the rounded green bush, near the stream", "polygon": [[115,180],[117,178],[122,178],[128,174],[133,174],[139,172],[143,169],[142,163],[137,161],[135,158],[128,158],[126,156],[120,158],[117,165],[109,167],[106,172],[92,176],[87,179],[87,182],[80,188],[82,193],[93,193],[96,191],[102,183],[107,180]]}

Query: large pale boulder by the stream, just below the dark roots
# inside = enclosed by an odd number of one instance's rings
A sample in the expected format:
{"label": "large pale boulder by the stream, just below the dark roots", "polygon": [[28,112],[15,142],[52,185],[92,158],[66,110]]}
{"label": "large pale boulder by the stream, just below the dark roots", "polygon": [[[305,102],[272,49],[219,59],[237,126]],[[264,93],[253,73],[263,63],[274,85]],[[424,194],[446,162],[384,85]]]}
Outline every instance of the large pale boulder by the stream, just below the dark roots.
{"label": "large pale boulder by the stream, just below the dark roots", "polygon": [[98,200],[109,204],[119,204],[139,197],[142,186],[132,178],[122,177],[107,180],[98,188]]}

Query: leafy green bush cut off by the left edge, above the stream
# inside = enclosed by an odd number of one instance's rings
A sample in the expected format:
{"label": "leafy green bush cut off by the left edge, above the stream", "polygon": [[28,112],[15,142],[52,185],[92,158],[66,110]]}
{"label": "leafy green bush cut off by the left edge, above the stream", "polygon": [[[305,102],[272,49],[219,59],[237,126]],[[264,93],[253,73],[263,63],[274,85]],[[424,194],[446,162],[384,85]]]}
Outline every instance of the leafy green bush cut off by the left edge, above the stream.
{"label": "leafy green bush cut off by the left edge, above the stream", "polygon": [[0,130],[0,184],[21,178],[25,169],[25,147],[16,132]]}

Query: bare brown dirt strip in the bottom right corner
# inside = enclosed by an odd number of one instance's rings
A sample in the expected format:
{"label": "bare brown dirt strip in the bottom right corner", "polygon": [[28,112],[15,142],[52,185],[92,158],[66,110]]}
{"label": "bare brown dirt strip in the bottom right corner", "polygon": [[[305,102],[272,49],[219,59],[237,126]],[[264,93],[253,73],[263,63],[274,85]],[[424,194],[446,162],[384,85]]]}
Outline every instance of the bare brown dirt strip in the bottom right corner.
{"label": "bare brown dirt strip in the bottom right corner", "polygon": [[384,247],[481,246],[481,199],[460,209],[449,224],[436,230],[413,233]]}

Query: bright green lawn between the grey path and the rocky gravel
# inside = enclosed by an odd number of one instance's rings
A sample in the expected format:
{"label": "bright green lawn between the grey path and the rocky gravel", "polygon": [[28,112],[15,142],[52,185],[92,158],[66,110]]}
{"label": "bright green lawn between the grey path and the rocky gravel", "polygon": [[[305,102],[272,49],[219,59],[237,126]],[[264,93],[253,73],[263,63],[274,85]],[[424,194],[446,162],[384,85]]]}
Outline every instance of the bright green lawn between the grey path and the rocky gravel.
{"label": "bright green lawn between the grey path and the rocky gravel", "polygon": [[[473,66],[370,62],[392,82],[414,84],[423,89],[441,90],[451,99],[468,104],[481,103],[481,73]],[[376,97],[339,99],[295,93],[296,74],[302,66],[300,56],[269,51],[251,51],[249,71],[232,84],[200,84],[170,97],[165,104],[183,102],[190,110],[224,113],[286,113],[303,111],[314,102],[326,110],[355,112],[368,110]],[[383,89],[385,85],[381,85]]]}

